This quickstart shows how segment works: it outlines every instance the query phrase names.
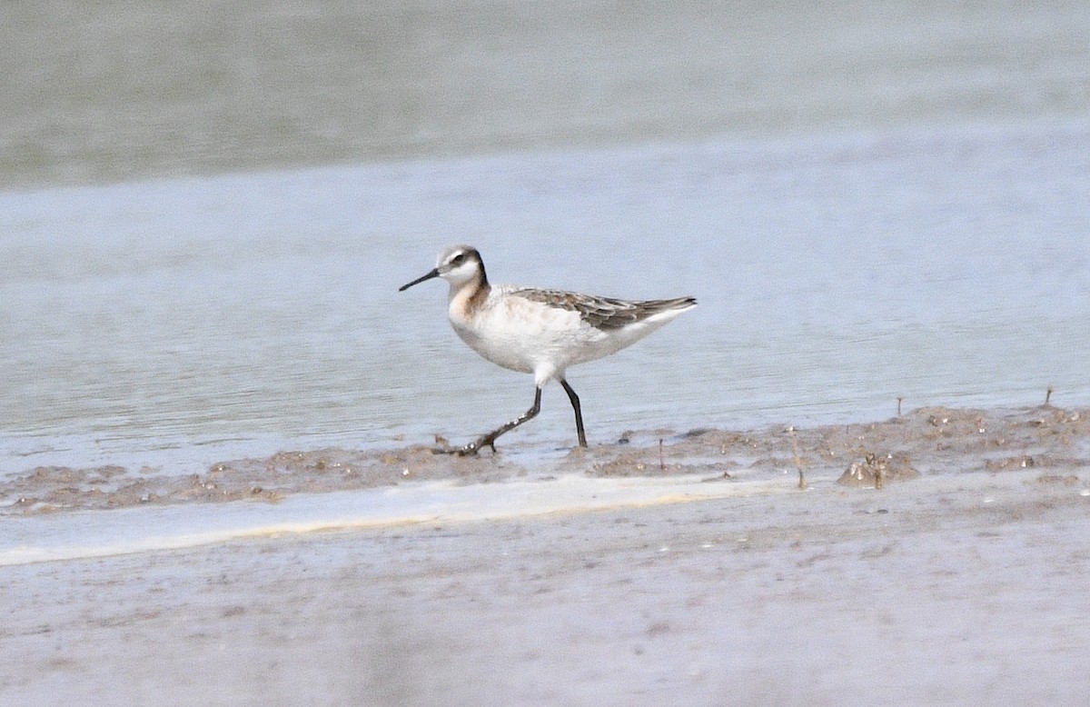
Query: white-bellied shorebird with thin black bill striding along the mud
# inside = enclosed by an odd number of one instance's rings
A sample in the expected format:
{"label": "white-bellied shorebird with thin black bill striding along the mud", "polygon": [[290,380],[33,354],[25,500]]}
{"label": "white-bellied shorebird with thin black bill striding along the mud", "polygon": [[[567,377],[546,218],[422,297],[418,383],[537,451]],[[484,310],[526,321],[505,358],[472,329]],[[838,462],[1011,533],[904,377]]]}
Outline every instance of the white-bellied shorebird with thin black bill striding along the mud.
{"label": "white-bellied shorebird with thin black bill striding along the mud", "polygon": [[692,297],[629,301],[533,287],[493,287],[481,253],[471,245],[446,249],[432,272],[398,291],[433,277],[450,284],[447,315],[470,348],[496,366],[534,374],[533,406],[463,447],[441,450],[458,455],[476,454],[486,446],[495,452],[496,438],[537,415],[542,387],[549,381],[559,381],[568,394],[579,446],[585,447],[579,396],[565,380],[568,367],[616,354],[697,305]]}

